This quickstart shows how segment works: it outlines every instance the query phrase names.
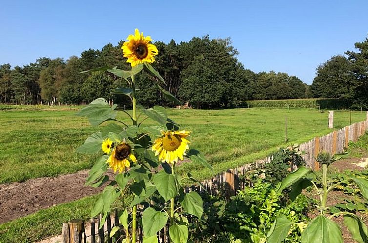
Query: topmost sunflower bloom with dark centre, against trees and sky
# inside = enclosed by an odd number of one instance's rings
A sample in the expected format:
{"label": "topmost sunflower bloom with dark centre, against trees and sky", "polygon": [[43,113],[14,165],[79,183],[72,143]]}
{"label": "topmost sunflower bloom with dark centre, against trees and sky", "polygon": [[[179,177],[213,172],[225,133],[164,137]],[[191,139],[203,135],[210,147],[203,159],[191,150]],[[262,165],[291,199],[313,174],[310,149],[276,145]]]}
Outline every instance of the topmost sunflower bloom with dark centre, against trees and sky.
{"label": "topmost sunflower bloom with dark centre, against trees and sky", "polygon": [[139,34],[139,30],[136,29],[134,35],[129,35],[127,40],[122,46],[123,56],[128,58],[126,62],[131,63],[132,67],[155,61],[154,56],[159,54],[159,51],[150,43],[152,41],[150,36],[144,37],[143,32]]}

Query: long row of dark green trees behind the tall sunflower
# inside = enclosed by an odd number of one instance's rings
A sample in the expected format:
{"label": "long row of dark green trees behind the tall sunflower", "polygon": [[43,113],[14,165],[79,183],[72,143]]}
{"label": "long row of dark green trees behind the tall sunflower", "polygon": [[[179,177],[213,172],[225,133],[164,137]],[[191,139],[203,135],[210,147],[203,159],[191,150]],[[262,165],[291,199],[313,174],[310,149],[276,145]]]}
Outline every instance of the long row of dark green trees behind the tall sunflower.
{"label": "long row of dark green trees behind the tall sunflower", "polygon": [[[120,41],[102,50],[88,49],[80,57],[41,57],[34,63],[11,68],[0,66],[0,102],[15,104],[84,104],[104,97],[114,103],[128,103],[114,93],[125,87],[124,80],[108,72],[83,73],[100,67],[117,66],[130,69],[123,58]],[[154,43],[159,55],[153,66],[163,76],[162,87],[182,103],[195,108],[232,107],[245,100],[297,99],[309,97],[309,89],[298,77],[287,73],[260,72],[245,69],[237,60],[237,50],[231,40],[194,37],[177,44]],[[170,105],[164,100],[156,78],[142,72],[136,77],[140,101],[144,106]],[[148,89],[147,89],[148,87]]]}

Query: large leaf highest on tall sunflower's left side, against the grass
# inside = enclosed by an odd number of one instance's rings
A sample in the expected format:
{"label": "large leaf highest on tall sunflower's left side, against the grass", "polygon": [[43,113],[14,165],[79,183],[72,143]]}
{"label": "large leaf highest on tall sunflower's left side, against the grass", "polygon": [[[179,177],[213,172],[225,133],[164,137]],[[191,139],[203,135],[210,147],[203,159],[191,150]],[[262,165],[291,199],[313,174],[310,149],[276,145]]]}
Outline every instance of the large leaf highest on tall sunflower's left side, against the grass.
{"label": "large leaf highest on tall sunflower's left side, against the grass", "polygon": [[98,126],[104,121],[114,120],[117,104],[110,106],[104,98],[97,98],[76,113],[77,116],[87,117],[92,126]]}

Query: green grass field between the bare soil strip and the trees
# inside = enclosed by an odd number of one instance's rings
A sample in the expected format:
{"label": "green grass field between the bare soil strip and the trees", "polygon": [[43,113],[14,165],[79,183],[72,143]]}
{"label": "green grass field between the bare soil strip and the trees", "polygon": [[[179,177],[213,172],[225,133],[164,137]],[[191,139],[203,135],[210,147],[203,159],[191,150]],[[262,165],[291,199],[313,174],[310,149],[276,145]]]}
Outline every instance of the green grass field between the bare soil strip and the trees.
{"label": "green grass field between the bare soil strip and the trees", "polygon": [[[0,109],[0,183],[55,176],[90,168],[96,155],[75,153],[75,149],[101,127],[91,127],[76,117],[77,108],[24,107]],[[169,109],[169,117],[191,130],[192,147],[203,151],[215,172],[267,156],[285,146],[285,115],[289,143],[305,142],[327,134],[328,113],[309,109]],[[365,113],[352,112],[351,121],[365,119]],[[124,114],[119,115],[124,119]],[[128,122],[128,119],[124,119]],[[349,125],[350,112],[335,112],[335,128]],[[146,120],[146,125],[153,121]],[[179,173],[195,171],[200,179],[208,170],[183,164]]]}

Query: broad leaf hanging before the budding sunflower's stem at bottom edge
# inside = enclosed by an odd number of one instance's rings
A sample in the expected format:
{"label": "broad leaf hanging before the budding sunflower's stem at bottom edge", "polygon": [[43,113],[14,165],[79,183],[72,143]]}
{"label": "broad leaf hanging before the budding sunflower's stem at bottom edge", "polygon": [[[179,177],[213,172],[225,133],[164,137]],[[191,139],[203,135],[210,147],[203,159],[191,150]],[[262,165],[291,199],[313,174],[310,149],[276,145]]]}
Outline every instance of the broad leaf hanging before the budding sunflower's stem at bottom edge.
{"label": "broad leaf hanging before the budding sunflower's stem at bottom edge", "polygon": [[337,223],[319,215],[303,230],[301,243],[343,243],[343,238]]}

